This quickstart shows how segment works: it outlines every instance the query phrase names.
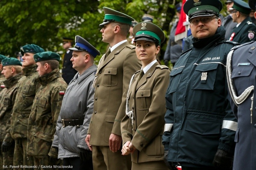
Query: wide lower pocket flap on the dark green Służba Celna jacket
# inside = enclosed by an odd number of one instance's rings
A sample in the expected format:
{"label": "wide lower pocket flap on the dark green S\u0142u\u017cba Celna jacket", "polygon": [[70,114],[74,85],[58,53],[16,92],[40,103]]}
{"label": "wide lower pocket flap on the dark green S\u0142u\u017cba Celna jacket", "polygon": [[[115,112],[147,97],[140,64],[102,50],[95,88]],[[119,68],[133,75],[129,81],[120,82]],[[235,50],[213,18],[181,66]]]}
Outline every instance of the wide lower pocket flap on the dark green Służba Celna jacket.
{"label": "wide lower pocket flap on the dark green S\u0142u\u017cba Celna jacket", "polygon": [[220,133],[220,122],[202,119],[187,119],[186,130],[201,135]]}

